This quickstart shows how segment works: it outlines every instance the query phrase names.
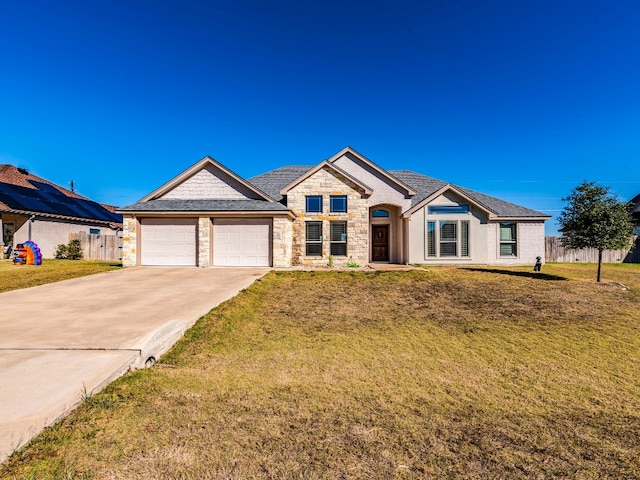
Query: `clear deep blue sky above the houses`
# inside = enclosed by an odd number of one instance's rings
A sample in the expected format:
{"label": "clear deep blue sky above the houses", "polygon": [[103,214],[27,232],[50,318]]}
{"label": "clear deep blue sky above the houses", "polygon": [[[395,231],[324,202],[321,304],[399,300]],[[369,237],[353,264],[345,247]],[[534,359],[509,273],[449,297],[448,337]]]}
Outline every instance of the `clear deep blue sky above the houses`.
{"label": "clear deep blue sky above the houses", "polygon": [[[637,1],[0,3],[0,163],[124,206],[349,145],[554,217],[640,193]],[[555,218],[547,233],[557,229]]]}

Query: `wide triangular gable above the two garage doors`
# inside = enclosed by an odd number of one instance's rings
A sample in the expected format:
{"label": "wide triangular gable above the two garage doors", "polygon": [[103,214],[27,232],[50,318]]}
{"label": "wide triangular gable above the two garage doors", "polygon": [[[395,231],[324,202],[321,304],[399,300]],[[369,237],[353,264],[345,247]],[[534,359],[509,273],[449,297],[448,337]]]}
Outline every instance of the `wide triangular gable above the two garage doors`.
{"label": "wide triangular gable above the two garage doors", "polygon": [[209,156],[169,180],[140,202],[158,199],[274,201],[269,195]]}

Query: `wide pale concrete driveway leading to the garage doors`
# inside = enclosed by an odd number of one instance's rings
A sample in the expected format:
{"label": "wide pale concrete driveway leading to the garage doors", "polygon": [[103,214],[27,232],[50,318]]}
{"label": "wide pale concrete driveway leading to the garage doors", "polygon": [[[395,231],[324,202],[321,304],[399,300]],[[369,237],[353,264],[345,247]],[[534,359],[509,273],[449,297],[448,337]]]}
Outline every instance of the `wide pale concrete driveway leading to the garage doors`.
{"label": "wide pale concrete driveway leading to the garage doors", "polygon": [[135,267],[0,293],[0,462],[268,271]]}

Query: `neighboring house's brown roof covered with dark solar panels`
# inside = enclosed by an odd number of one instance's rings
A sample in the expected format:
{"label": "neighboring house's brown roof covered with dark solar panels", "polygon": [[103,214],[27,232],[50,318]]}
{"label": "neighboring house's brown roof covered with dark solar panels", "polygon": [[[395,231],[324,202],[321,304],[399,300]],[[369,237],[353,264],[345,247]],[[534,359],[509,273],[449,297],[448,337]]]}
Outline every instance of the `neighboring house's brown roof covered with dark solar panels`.
{"label": "neighboring house's brown roof covered with dark solar panels", "polygon": [[0,211],[122,223],[102,205],[13,165],[0,165]]}

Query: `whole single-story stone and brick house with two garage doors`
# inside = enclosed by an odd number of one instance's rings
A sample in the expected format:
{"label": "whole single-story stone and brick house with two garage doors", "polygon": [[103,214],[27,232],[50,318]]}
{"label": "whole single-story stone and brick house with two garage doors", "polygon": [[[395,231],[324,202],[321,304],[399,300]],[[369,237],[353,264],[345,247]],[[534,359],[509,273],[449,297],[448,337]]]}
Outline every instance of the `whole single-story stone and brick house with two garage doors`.
{"label": "whole single-story stone and brick house with two garage doors", "polygon": [[349,147],[248,180],[205,157],[118,212],[125,266],[533,265],[551,218]]}

